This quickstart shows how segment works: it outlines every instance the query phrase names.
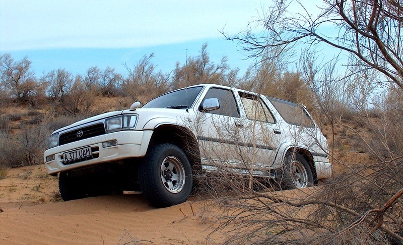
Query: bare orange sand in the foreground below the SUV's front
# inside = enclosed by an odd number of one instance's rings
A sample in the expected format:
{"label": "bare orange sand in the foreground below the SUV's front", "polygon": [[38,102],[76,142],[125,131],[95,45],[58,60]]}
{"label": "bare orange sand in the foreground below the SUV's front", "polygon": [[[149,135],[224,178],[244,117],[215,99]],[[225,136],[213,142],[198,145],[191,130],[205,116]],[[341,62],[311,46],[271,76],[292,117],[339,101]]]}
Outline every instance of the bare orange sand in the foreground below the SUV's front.
{"label": "bare orange sand in the foreground below the SUV's front", "polygon": [[[0,180],[0,244],[196,244],[215,225],[204,201],[152,208],[141,194],[62,202],[43,165],[7,169]],[[210,218],[209,218],[210,217]],[[131,243],[130,243],[131,242]]]}

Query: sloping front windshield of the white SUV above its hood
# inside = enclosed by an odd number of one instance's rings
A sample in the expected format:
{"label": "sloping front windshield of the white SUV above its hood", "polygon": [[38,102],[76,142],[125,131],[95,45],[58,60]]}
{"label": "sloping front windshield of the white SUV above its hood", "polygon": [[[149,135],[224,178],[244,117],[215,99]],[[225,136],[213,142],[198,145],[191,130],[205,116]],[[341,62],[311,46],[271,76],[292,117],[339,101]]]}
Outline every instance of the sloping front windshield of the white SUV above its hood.
{"label": "sloping front windshield of the white SUV above its hood", "polygon": [[203,86],[176,90],[150,100],[143,108],[190,108]]}

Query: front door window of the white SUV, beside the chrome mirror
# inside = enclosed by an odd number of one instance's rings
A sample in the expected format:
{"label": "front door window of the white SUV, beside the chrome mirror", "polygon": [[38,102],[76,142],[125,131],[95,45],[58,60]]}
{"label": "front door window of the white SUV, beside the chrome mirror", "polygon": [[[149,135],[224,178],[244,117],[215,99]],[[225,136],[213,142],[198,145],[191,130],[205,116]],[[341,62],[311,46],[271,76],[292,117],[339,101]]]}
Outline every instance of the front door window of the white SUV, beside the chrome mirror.
{"label": "front door window of the white SUV, beside the chrome mirror", "polygon": [[[219,89],[219,88],[211,88],[209,92],[207,92],[201,104],[205,101],[205,99],[217,98],[220,104],[220,107],[215,110],[210,110],[207,113],[214,113],[220,115],[227,115],[233,117],[239,117],[238,107],[235,102],[235,97],[230,90],[227,89]],[[201,108],[199,108],[201,109]]]}

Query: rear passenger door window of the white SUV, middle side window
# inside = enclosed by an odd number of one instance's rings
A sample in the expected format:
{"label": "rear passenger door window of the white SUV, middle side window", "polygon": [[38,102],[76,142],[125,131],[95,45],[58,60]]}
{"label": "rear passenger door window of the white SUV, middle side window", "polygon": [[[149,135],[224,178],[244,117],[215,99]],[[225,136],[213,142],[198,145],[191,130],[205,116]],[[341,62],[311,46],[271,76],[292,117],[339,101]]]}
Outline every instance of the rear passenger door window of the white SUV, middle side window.
{"label": "rear passenger door window of the white SUV, middle side window", "polygon": [[263,121],[265,123],[276,123],[273,114],[258,96],[246,93],[239,93],[239,95],[241,96],[248,119]]}

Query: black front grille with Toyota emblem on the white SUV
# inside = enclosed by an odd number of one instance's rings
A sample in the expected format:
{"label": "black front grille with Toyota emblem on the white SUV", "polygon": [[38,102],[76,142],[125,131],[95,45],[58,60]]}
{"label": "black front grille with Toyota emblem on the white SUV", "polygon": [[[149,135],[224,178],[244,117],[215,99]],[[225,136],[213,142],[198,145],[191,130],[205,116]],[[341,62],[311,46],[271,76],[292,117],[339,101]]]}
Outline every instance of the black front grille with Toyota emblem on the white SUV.
{"label": "black front grille with Toyota emblem on the white SUV", "polygon": [[[82,131],[82,134],[79,131]],[[104,124],[94,124],[61,134],[59,137],[59,146],[104,134],[106,134]],[[80,135],[81,137],[78,137]]]}

